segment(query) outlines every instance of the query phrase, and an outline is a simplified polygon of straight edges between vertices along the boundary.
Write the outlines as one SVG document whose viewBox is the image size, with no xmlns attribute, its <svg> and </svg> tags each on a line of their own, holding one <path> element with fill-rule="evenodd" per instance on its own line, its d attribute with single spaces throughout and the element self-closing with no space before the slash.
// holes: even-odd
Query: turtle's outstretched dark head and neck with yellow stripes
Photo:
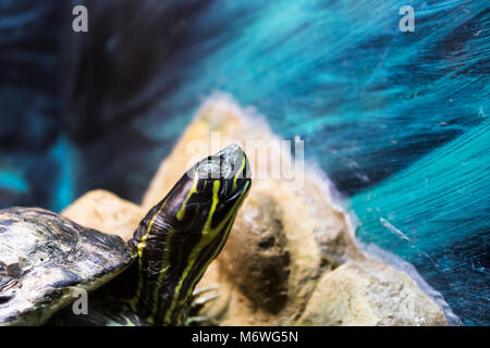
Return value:
<svg viewBox="0 0 490 348">
<path fill-rule="evenodd" d="M 191 167 L 142 221 L 137 311 L 156 324 L 180 324 L 192 293 L 224 246 L 250 188 L 249 163 L 232 145 Z"/>
</svg>

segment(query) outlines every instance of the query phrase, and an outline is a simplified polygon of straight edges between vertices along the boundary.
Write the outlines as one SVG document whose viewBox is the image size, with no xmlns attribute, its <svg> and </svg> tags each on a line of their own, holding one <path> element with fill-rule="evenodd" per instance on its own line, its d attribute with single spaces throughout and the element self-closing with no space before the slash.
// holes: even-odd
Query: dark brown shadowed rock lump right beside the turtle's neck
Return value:
<svg viewBox="0 0 490 348">
<path fill-rule="evenodd" d="M 274 314 L 287 300 L 291 266 L 281 212 L 260 192 L 248 199 L 247 207 L 253 219 L 235 221 L 220 266 L 254 306 Z"/>
</svg>

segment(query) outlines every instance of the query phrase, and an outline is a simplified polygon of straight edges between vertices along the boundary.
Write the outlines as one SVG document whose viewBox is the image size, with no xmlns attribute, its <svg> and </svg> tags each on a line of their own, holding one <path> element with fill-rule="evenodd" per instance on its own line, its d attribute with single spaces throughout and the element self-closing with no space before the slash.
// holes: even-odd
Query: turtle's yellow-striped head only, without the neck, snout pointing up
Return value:
<svg viewBox="0 0 490 348">
<path fill-rule="evenodd" d="M 232 145 L 197 162 L 181 181 L 169 209 L 175 225 L 200 241 L 226 237 L 226 227 L 250 187 L 249 164 L 242 149 Z"/>
</svg>

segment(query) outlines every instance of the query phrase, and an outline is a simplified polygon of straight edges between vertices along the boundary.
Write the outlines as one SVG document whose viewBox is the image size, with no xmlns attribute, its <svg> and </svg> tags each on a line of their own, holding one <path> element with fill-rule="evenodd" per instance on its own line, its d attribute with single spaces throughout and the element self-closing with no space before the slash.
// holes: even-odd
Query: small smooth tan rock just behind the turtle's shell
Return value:
<svg viewBox="0 0 490 348">
<path fill-rule="evenodd" d="M 83 226 L 119 235 L 124 240 L 133 237 L 145 213 L 135 203 L 102 189 L 88 191 L 61 212 Z"/>
</svg>

